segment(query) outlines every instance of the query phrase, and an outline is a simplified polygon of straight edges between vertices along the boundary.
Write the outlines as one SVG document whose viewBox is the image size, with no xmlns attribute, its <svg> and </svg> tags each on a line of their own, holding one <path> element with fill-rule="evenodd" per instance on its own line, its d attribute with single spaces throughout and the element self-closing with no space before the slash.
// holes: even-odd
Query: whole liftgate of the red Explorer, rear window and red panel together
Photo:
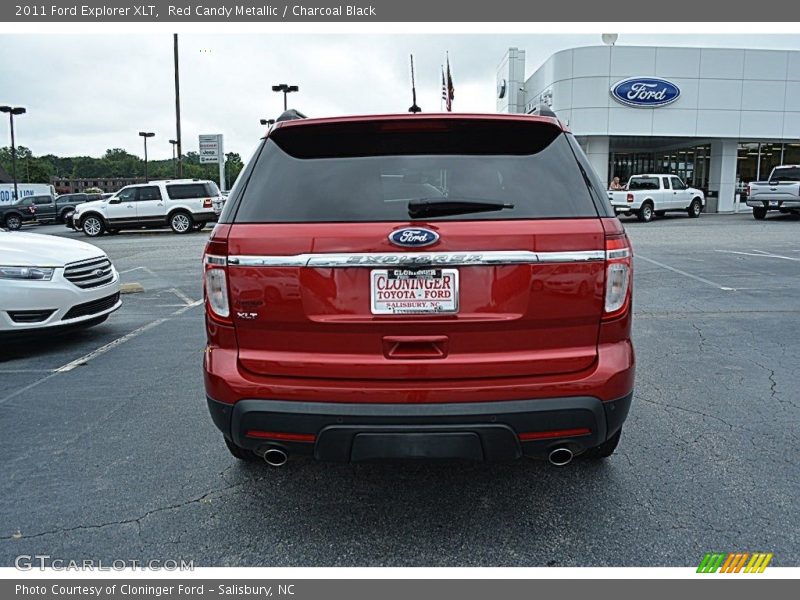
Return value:
<svg viewBox="0 0 800 600">
<path fill-rule="evenodd" d="M 546 119 L 276 128 L 221 219 L 241 368 L 423 380 L 591 367 L 611 209 L 577 152 L 583 163 Z M 412 218 L 419 200 L 439 212 Z M 389 239 L 408 227 L 432 241 Z M 408 286 L 409 304 L 384 301 Z M 423 308 L 427 290 L 441 295 Z"/>
</svg>

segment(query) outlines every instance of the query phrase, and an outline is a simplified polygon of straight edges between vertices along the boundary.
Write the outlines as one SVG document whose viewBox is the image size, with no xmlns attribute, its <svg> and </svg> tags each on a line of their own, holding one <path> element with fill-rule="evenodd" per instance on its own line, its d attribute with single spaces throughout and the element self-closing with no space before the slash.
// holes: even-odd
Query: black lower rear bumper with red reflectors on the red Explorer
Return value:
<svg viewBox="0 0 800 600">
<path fill-rule="evenodd" d="M 557 447 L 580 454 L 597 446 L 622 427 L 632 397 L 631 392 L 611 402 L 578 396 L 449 404 L 207 400 L 223 435 L 256 452 L 280 447 L 336 462 L 497 461 L 544 457 Z"/>
</svg>

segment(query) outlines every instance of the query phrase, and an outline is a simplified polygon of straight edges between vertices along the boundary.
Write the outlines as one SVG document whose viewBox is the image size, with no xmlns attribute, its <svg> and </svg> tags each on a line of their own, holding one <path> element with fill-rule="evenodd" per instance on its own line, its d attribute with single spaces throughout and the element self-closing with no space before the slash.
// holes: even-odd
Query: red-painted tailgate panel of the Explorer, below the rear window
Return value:
<svg viewBox="0 0 800 600">
<path fill-rule="evenodd" d="M 408 256 L 387 239 L 402 225 L 234 227 L 229 256 L 274 265 L 229 267 L 232 314 L 248 315 L 235 319 L 241 365 L 264 375 L 354 379 L 504 377 L 592 365 L 603 308 L 599 219 L 427 223 L 440 243 L 414 251 L 419 255 L 475 260 L 486 251 L 514 251 L 514 260 L 519 251 L 532 253 L 527 264 L 486 255 L 500 264 L 452 267 L 458 273 L 453 313 L 373 314 L 371 275 L 391 269 L 391 262 L 292 265 L 329 254 Z"/>
</svg>

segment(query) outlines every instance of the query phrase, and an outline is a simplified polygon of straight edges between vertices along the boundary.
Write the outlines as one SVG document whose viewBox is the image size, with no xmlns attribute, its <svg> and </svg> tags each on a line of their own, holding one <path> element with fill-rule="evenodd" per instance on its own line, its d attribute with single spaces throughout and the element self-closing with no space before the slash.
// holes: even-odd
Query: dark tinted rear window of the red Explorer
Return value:
<svg viewBox="0 0 800 600">
<path fill-rule="evenodd" d="M 425 220 L 598 214 L 557 127 L 420 120 L 276 130 L 264 142 L 234 221 L 408 221 L 409 201 L 420 199 L 514 205 Z"/>
</svg>

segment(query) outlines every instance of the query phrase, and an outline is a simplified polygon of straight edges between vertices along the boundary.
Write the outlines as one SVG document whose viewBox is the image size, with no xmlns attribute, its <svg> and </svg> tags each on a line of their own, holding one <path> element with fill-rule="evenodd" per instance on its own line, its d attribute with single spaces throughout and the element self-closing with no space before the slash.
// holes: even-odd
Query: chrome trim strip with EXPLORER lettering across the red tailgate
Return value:
<svg viewBox="0 0 800 600">
<path fill-rule="evenodd" d="M 208 258 L 208 257 L 207 257 Z M 216 258 L 216 257 L 215 257 Z M 229 256 L 228 265 L 242 267 L 387 267 L 524 265 L 534 263 L 589 262 L 605 260 L 603 250 L 531 252 L 484 250 L 474 252 L 354 252 L 352 254 L 296 254 L 292 256 Z"/>
</svg>

